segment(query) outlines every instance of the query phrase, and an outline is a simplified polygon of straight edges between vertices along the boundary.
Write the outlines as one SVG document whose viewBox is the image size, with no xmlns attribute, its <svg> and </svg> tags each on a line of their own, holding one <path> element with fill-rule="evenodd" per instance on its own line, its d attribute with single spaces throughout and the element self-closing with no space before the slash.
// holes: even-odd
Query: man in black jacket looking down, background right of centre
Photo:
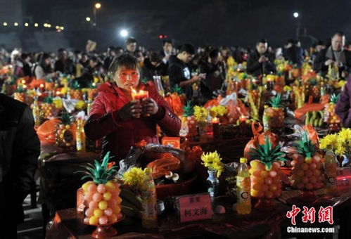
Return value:
<svg viewBox="0 0 351 239">
<path fill-rule="evenodd" d="M 273 63 L 274 59 L 269 56 L 267 48 L 268 44 L 266 39 L 257 41 L 256 50 L 250 53 L 248 57 L 248 74 L 258 77 L 260 75 L 276 72 L 276 65 Z"/>
</svg>

